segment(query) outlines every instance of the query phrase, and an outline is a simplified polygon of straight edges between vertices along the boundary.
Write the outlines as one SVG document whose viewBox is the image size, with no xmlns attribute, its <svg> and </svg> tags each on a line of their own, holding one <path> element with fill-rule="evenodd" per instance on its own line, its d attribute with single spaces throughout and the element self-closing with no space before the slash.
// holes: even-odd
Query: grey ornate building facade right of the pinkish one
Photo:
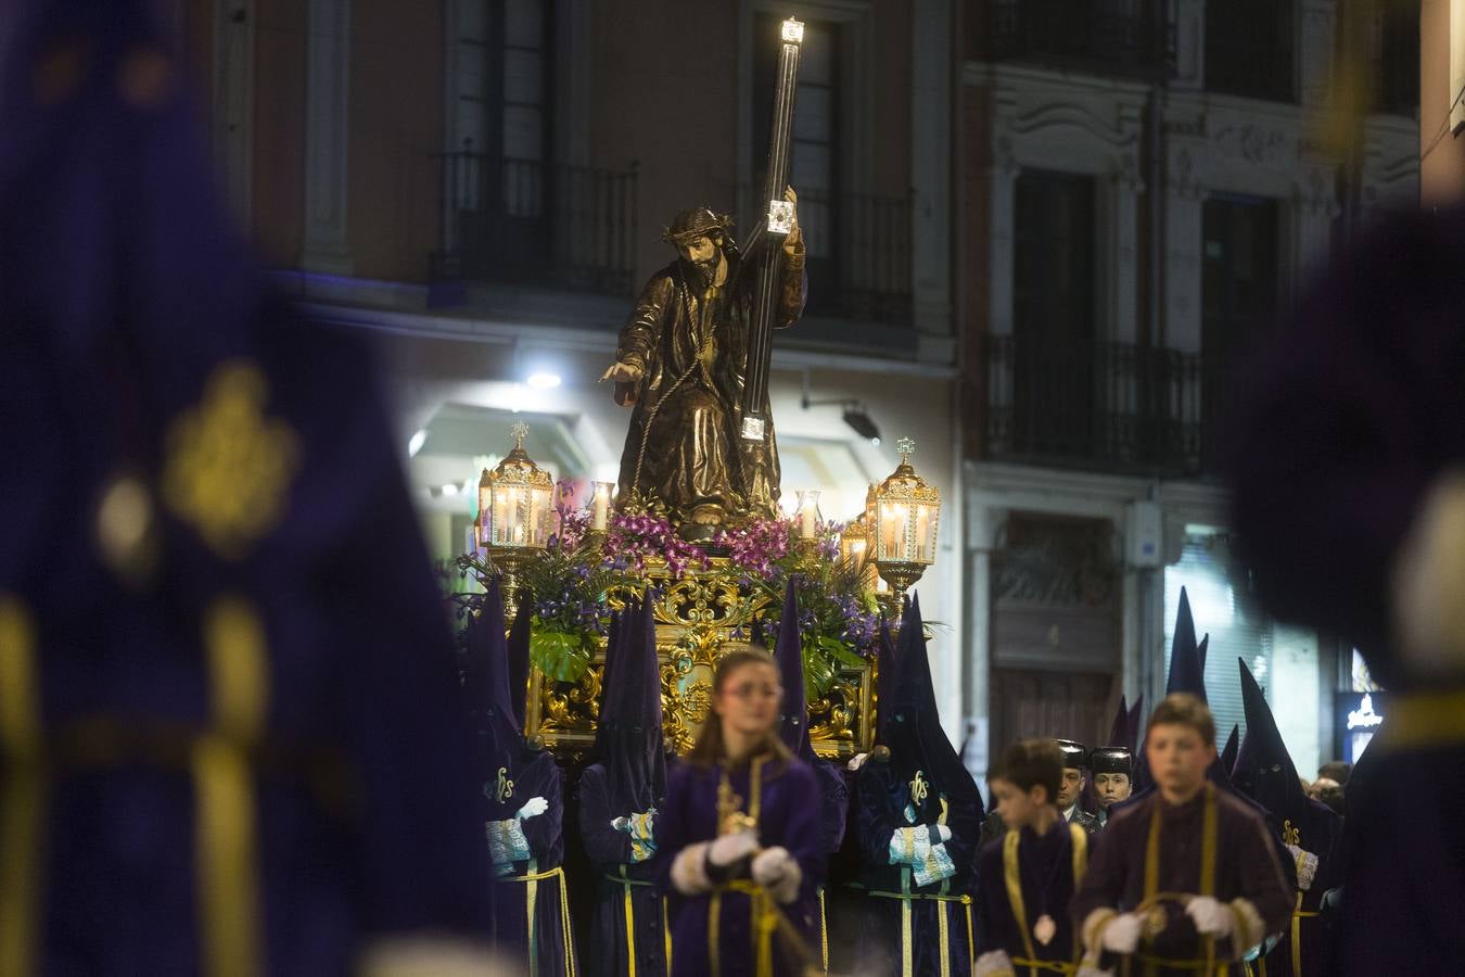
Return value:
<svg viewBox="0 0 1465 977">
<path fill-rule="evenodd" d="M 1364 138 L 1330 152 L 1333 0 L 977 0 L 963 12 L 974 741 L 1093 743 L 1121 693 L 1153 703 L 1185 587 L 1210 636 L 1219 734 L 1241 722 L 1239 656 L 1298 768 L 1316 769 L 1333 751 L 1351 656 L 1251 598 L 1217 478 L 1225 422 L 1251 341 L 1310 268 L 1371 211 L 1415 205 L 1418 62 L 1398 41 L 1418 21 L 1367 22 L 1377 81 Z"/>
</svg>

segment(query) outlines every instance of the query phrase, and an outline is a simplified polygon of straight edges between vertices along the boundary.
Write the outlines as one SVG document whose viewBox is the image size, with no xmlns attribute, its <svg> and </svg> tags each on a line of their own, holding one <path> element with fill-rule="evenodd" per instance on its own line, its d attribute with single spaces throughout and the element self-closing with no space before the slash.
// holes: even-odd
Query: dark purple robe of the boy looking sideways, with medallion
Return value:
<svg viewBox="0 0 1465 977">
<path fill-rule="evenodd" d="M 1078 962 L 1083 948 L 1078 945 L 1078 933 L 1068 914 L 1068 904 L 1077 891 L 1072 831 L 1059 817 L 1046 833 L 1039 835 L 1031 828 L 1024 828 L 1018 832 L 1018 882 L 1023 891 L 1024 917 L 1021 921 L 1014 915 L 1008 895 L 1004 860 L 1006 836 L 999 835 L 977 852 L 977 877 L 982 879 L 976 904 L 979 955 L 1001 949 L 1014 961 Z M 1087 832 L 1084 838 L 1088 845 L 1097 841 L 1097 836 Z M 1083 860 L 1086 864 L 1088 854 L 1091 852 Z M 1043 914 L 1047 914 L 1058 927 L 1046 946 L 1033 936 L 1033 926 Z M 1024 967 L 1014 967 L 1014 971 L 1023 977 L 1050 973 Z"/>
</svg>

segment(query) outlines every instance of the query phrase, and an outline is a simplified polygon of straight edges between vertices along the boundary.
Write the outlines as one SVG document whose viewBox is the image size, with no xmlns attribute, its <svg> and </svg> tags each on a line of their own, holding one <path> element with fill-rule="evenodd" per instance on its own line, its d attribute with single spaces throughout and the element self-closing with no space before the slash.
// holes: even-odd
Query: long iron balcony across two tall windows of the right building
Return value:
<svg viewBox="0 0 1465 977">
<path fill-rule="evenodd" d="M 1014 335 L 987 335 L 983 350 L 984 457 L 1150 476 L 1204 467 L 1198 356 Z"/>
</svg>

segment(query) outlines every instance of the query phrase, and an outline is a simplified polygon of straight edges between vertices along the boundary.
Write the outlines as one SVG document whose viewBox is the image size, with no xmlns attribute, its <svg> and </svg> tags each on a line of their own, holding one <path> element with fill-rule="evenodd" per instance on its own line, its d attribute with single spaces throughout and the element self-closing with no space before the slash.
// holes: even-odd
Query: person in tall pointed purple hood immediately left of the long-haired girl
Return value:
<svg viewBox="0 0 1465 977">
<path fill-rule="evenodd" d="M 667 920 L 656 888 L 656 811 L 667 797 L 661 677 L 652 599 L 612 625 L 595 728 L 596 762 L 580 773 L 580 839 L 599 873 L 590 974 L 667 973 Z"/>
</svg>

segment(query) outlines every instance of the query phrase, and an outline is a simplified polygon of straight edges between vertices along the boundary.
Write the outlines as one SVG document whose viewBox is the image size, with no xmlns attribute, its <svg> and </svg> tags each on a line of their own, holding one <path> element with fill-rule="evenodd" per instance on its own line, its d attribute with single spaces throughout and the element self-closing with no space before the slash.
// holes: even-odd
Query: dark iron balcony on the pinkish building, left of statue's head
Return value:
<svg viewBox="0 0 1465 977">
<path fill-rule="evenodd" d="M 636 170 L 435 154 L 441 236 L 432 281 L 494 281 L 628 296 Z"/>
</svg>

